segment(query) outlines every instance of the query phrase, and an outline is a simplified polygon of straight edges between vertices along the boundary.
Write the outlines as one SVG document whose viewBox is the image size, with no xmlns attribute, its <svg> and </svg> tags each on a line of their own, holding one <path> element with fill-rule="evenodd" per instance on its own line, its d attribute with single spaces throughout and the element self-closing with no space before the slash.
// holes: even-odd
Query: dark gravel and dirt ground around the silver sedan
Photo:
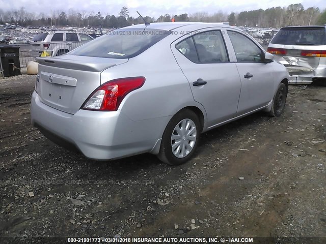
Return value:
<svg viewBox="0 0 326 244">
<path fill-rule="evenodd" d="M 204 133 L 195 158 L 170 167 L 150 154 L 97 162 L 53 144 L 31 126 L 35 79 L 0 79 L 0 236 L 326 243 L 326 87 L 291 85 L 281 117 L 258 112 Z"/>
</svg>

